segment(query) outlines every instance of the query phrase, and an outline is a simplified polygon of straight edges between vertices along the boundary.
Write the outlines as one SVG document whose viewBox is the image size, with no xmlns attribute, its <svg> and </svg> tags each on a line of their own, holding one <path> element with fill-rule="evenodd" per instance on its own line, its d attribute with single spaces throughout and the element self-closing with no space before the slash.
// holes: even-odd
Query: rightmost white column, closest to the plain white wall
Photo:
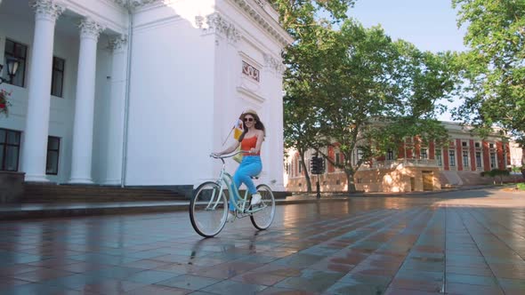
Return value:
<svg viewBox="0 0 525 295">
<path fill-rule="evenodd" d="M 124 141 L 126 48 L 125 36 L 109 41 L 113 51 L 111 65 L 111 96 L 109 98 L 108 163 L 104 184 L 119 185 L 122 178 L 122 156 Z"/>
</svg>

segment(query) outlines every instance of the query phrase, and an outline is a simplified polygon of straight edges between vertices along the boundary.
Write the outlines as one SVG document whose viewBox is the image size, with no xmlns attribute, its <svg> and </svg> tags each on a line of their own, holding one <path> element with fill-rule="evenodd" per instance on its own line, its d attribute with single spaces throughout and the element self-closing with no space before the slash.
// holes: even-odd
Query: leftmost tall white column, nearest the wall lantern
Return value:
<svg viewBox="0 0 525 295">
<path fill-rule="evenodd" d="M 35 35 L 28 76 L 28 114 L 22 145 L 22 171 L 26 181 L 45 178 L 49 107 L 51 100 L 52 48 L 55 22 L 64 7 L 52 0 L 36 0 Z"/>
</svg>

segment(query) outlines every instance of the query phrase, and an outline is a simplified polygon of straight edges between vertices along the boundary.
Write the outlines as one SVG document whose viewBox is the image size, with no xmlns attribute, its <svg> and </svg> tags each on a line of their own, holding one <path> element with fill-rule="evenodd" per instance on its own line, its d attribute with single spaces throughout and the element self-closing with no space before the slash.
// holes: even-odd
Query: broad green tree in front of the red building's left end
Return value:
<svg viewBox="0 0 525 295">
<path fill-rule="evenodd" d="M 380 27 L 363 28 L 346 20 L 331 34 L 334 42 L 327 44 L 315 84 L 323 134 L 315 148 L 345 172 L 351 192 L 359 167 L 396 148 L 404 137 L 447 139 L 435 117 L 441 109 L 438 100 L 454 89 L 455 76 L 449 70 L 450 53 L 420 52 L 407 42 L 394 43 Z M 327 155 L 327 146 L 337 146 L 343 161 L 336 163 Z"/>
</svg>

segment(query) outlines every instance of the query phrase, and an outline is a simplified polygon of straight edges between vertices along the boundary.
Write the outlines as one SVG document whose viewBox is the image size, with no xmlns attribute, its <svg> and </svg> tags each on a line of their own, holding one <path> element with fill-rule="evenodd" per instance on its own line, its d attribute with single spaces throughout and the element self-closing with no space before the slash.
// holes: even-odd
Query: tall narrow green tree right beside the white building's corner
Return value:
<svg viewBox="0 0 525 295">
<path fill-rule="evenodd" d="M 271 4 L 280 14 L 281 24 L 295 38 L 295 43 L 283 53 L 287 71 L 284 76 L 284 138 L 285 148 L 295 148 L 301 158 L 307 191 L 311 192 L 308 159 L 305 152 L 319 137 L 316 117 L 317 95 L 311 84 L 323 66 L 319 40 L 327 36 L 327 23 L 338 23 L 346 18 L 353 0 L 273 0 Z M 319 14 L 325 16 L 319 19 Z"/>
</svg>

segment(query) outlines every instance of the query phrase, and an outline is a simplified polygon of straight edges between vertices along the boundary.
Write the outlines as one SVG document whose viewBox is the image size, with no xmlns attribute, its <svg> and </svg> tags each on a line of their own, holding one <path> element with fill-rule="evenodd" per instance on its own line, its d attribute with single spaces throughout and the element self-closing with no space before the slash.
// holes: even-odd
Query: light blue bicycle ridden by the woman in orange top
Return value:
<svg viewBox="0 0 525 295">
<path fill-rule="evenodd" d="M 265 184 L 258 185 L 257 192 L 262 196 L 261 203 L 250 205 L 251 195 L 246 190 L 241 197 L 233 183 L 233 178 L 226 171 L 224 159 L 244 152 L 246 151 L 238 151 L 230 155 L 210 155 L 222 161 L 222 170 L 217 180 L 206 181 L 199 185 L 191 198 L 191 226 L 198 235 L 213 237 L 221 232 L 228 218 L 228 201 L 235 207 L 236 218 L 249 216 L 254 227 L 259 230 L 270 227 L 275 216 L 275 198 L 271 188 Z"/>
</svg>

